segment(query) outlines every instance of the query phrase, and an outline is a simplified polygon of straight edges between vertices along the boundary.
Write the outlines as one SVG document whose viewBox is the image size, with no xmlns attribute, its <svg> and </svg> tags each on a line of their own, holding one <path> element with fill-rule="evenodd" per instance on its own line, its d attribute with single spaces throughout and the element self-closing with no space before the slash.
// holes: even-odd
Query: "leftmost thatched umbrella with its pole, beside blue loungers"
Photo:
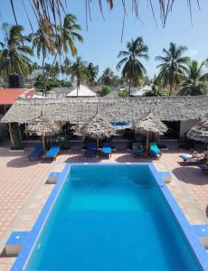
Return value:
<svg viewBox="0 0 208 271">
<path fill-rule="evenodd" d="M 43 150 L 45 151 L 44 135 L 45 133 L 59 131 L 60 126 L 55 122 L 40 116 L 33 119 L 25 128 L 26 133 L 36 133 L 42 135 Z"/>
</svg>

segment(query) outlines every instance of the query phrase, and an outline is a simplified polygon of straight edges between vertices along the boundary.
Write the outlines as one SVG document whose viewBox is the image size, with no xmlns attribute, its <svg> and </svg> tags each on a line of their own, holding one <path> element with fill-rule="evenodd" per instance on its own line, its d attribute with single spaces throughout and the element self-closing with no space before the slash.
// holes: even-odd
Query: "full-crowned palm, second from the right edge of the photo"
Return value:
<svg viewBox="0 0 208 271">
<path fill-rule="evenodd" d="M 159 68 L 158 79 L 164 86 L 169 85 L 169 97 L 172 94 L 175 85 L 179 84 L 184 72 L 186 71 L 186 64 L 189 61 L 188 57 L 184 57 L 184 51 L 186 46 L 179 45 L 170 42 L 168 50 L 163 48 L 164 56 L 156 56 L 156 61 L 160 61 L 161 64 L 157 65 Z"/>
</svg>

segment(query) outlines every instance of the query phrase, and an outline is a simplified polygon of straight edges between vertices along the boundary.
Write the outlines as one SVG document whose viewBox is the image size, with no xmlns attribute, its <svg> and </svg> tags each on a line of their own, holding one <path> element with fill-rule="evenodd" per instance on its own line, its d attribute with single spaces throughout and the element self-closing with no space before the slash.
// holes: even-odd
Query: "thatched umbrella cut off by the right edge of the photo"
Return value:
<svg viewBox="0 0 208 271">
<path fill-rule="evenodd" d="M 208 143 L 208 117 L 204 117 L 196 126 L 191 128 L 187 136 L 194 140 Z"/>
</svg>

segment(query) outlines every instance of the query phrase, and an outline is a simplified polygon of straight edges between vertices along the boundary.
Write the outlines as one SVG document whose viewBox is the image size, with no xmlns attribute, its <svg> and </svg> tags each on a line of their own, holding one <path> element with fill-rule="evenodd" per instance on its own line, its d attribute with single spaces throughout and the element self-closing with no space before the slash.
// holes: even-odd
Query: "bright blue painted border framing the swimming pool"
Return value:
<svg viewBox="0 0 208 271">
<path fill-rule="evenodd" d="M 186 238 L 188 245 L 192 249 L 196 260 L 198 261 L 199 266 L 203 268 L 204 271 L 208 271 L 208 254 L 203 248 L 203 245 L 200 243 L 200 240 L 197 238 L 194 233 L 194 229 L 191 224 L 189 224 L 188 220 L 186 220 L 184 216 L 184 212 L 180 209 L 178 203 L 175 201 L 174 196 L 168 190 L 165 182 L 162 177 L 159 175 L 159 171 L 156 170 L 156 166 L 153 163 L 67 163 L 63 170 L 61 171 L 58 181 L 52 189 L 51 194 L 49 195 L 47 201 L 43 206 L 43 210 L 41 211 L 38 219 L 35 221 L 33 228 L 31 229 L 28 236 L 28 243 L 24 246 L 19 255 L 16 257 L 14 261 L 14 265 L 11 267 L 11 271 L 24 271 L 24 267 L 28 263 L 30 255 L 33 252 L 34 244 L 37 241 L 39 235 L 43 230 L 43 226 L 47 221 L 48 216 L 51 213 L 52 207 L 61 192 L 61 187 L 63 182 L 65 181 L 67 175 L 70 172 L 71 165 L 147 165 L 150 172 L 153 174 L 154 179 L 156 180 L 156 184 L 158 189 L 162 192 L 165 197 L 165 201 L 172 210 L 175 220 L 177 221 L 179 227 L 182 229 L 184 234 L 184 238 Z"/>
</svg>

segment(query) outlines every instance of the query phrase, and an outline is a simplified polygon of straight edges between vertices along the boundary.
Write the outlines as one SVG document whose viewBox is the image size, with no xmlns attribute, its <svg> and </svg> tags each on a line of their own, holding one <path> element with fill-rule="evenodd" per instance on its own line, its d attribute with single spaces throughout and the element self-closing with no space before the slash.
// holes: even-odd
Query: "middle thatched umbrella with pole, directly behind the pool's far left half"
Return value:
<svg viewBox="0 0 208 271">
<path fill-rule="evenodd" d="M 116 129 L 106 118 L 100 117 L 97 114 L 95 117 L 90 118 L 90 121 L 81 128 L 80 132 L 82 135 L 96 139 L 97 153 L 99 153 L 99 139 L 114 135 Z"/>
</svg>

